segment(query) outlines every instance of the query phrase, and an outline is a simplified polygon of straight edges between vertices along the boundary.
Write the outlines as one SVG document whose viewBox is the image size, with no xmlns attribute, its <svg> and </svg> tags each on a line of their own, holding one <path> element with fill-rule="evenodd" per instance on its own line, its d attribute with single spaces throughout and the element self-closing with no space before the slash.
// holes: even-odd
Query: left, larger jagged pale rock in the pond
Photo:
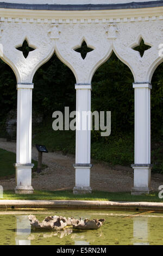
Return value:
<svg viewBox="0 0 163 256">
<path fill-rule="evenodd" d="M 67 225 L 66 218 L 62 216 L 49 216 L 41 223 L 34 215 L 29 215 L 28 218 L 32 227 L 36 229 L 60 230 L 64 229 Z"/>
</svg>

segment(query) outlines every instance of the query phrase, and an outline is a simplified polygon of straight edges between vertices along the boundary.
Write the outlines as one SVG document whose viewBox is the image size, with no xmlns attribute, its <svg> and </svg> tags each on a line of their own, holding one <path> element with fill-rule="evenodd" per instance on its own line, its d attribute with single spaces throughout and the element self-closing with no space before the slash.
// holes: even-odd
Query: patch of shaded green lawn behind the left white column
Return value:
<svg viewBox="0 0 163 256">
<path fill-rule="evenodd" d="M 4 149 L 0 149 L 0 177 L 15 175 L 16 154 Z M 37 161 L 32 160 L 34 163 L 33 171 L 37 168 Z M 43 165 L 43 168 L 46 166 Z"/>
</svg>

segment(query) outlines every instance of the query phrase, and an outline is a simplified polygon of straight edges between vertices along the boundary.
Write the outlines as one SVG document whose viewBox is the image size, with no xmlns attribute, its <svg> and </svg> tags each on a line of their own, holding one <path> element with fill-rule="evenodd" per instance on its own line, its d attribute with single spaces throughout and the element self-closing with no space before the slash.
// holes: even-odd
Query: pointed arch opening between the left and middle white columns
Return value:
<svg viewBox="0 0 163 256">
<path fill-rule="evenodd" d="M 72 158 L 72 163 L 68 160 L 66 163 L 65 155 L 75 154 L 76 132 L 65 130 L 65 107 L 69 107 L 69 112 L 76 110 L 76 90 L 74 89 L 76 78 L 68 66 L 62 63 L 54 53 L 52 58 L 36 71 L 33 83 L 33 120 L 36 119 L 34 115 L 37 115 L 38 123 L 33 125 L 32 144 L 46 145 L 49 154 L 53 154 L 55 158 L 53 166 L 52 163 L 47 164 L 48 168 L 45 166 L 46 169 L 42 172 L 51 176 L 45 188 L 47 190 L 72 190 L 74 159 Z M 53 130 L 52 124 L 56 118 L 52 118 L 52 114 L 55 111 L 63 114 L 63 130 Z M 47 161 L 45 155 L 45 162 Z M 71 172 L 66 167 L 61 167 L 62 164 L 68 164 L 67 169 L 71 169 Z"/>
</svg>

